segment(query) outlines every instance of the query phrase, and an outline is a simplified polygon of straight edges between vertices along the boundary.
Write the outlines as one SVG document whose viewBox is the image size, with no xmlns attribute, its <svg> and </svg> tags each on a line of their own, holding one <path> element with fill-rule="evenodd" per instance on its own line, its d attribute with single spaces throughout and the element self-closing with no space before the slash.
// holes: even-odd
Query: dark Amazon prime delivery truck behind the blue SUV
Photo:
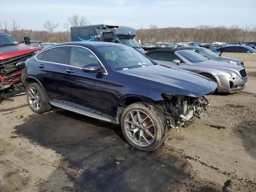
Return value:
<svg viewBox="0 0 256 192">
<path fill-rule="evenodd" d="M 71 27 L 71 41 L 101 41 L 128 45 L 142 52 L 138 42 L 134 39 L 136 30 L 134 28 L 114 25 L 90 25 Z"/>
</svg>

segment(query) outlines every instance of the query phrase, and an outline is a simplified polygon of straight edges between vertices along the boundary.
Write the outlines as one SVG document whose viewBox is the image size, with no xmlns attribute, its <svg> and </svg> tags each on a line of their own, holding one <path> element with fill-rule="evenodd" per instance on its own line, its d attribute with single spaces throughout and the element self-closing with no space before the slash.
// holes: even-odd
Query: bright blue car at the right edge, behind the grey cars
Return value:
<svg viewBox="0 0 256 192">
<path fill-rule="evenodd" d="M 229 45 L 229 46 L 222 46 L 216 49 L 213 49 L 212 52 L 215 53 L 256 53 L 256 50 L 244 45 Z"/>
</svg>

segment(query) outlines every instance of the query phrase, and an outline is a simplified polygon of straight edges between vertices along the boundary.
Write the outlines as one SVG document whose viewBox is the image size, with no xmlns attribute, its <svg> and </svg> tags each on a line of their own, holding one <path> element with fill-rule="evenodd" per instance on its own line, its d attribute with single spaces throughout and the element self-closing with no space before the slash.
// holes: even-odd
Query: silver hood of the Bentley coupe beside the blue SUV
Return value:
<svg viewBox="0 0 256 192">
<path fill-rule="evenodd" d="M 244 68 L 239 65 L 234 65 L 226 62 L 218 62 L 218 61 L 213 61 L 213 60 L 207 60 L 207 61 L 202 61 L 198 63 L 194 63 L 196 66 L 208 66 L 211 68 L 222 68 L 226 70 L 232 70 L 236 71 L 239 74 L 240 70 L 243 70 Z"/>
</svg>

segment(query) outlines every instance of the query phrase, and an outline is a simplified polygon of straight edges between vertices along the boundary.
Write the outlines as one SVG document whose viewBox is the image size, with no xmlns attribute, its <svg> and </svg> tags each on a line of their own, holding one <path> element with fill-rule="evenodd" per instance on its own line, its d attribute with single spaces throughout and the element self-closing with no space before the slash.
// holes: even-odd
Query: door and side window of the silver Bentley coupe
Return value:
<svg viewBox="0 0 256 192">
<path fill-rule="evenodd" d="M 154 60 L 156 63 L 176 67 L 181 69 L 188 69 L 188 64 L 186 64 L 181 58 L 179 58 L 176 54 L 170 52 L 154 52 L 148 55 L 149 58 Z M 178 59 L 181 61 L 180 65 L 173 62 L 173 60 Z"/>
</svg>

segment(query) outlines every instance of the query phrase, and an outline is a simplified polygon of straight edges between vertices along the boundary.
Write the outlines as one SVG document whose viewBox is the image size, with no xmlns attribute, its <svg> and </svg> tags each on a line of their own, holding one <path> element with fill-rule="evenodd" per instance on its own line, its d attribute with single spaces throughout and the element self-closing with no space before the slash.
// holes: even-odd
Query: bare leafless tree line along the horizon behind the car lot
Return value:
<svg viewBox="0 0 256 192">
<path fill-rule="evenodd" d="M 60 23 L 53 23 L 50 20 L 44 22 L 44 30 L 26 30 L 15 20 L 0 20 L 0 30 L 10 32 L 19 40 L 24 36 L 31 40 L 43 42 L 69 42 L 70 27 L 89 25 L 90 22 L 84 16 L 77 14 L 67 18 L 68 22 L 63 24 L 66 31 L 56 31 Z M 255 42 L 256 25 L 250 26 L 206 26 L 200 25 L 192 28 L 168 27 L 158 28 L 151 24 L 148 28 L 136 30 L 136 40 L 141 42 Z"/>
</svg>

